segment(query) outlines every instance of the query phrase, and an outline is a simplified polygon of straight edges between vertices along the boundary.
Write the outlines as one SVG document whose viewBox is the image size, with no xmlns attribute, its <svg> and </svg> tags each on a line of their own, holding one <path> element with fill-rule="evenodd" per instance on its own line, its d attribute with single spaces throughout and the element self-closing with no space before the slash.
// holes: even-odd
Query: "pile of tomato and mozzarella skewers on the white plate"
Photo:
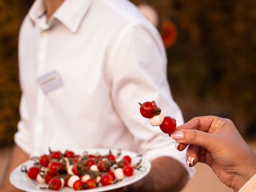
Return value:
<svg viewBox="0 0 256 192">
<path fill-rule="evenodd" d="M 136 157 L 138 156 L 140 155 Z M 40 189 L 51 190 L 60 190 L 64 186 L 74 190 L 108 186 L 132 176 L 134 169 L 143 171 L 144 168 L 140 165 L 142 159 L 131 164 L 132 158 L 128 155 L 121 156 L 120 149 L 116 155 L 111 150 L 108 154 L 91 154 L 85 151 L 79 155 L 70 150 L 61 153 L 49 148 L 49 154 L 31 159 L 34 160 L 34 166 L 22 166 L 21 171 L 40 184 L 48 184 Z"/>
</svg>

